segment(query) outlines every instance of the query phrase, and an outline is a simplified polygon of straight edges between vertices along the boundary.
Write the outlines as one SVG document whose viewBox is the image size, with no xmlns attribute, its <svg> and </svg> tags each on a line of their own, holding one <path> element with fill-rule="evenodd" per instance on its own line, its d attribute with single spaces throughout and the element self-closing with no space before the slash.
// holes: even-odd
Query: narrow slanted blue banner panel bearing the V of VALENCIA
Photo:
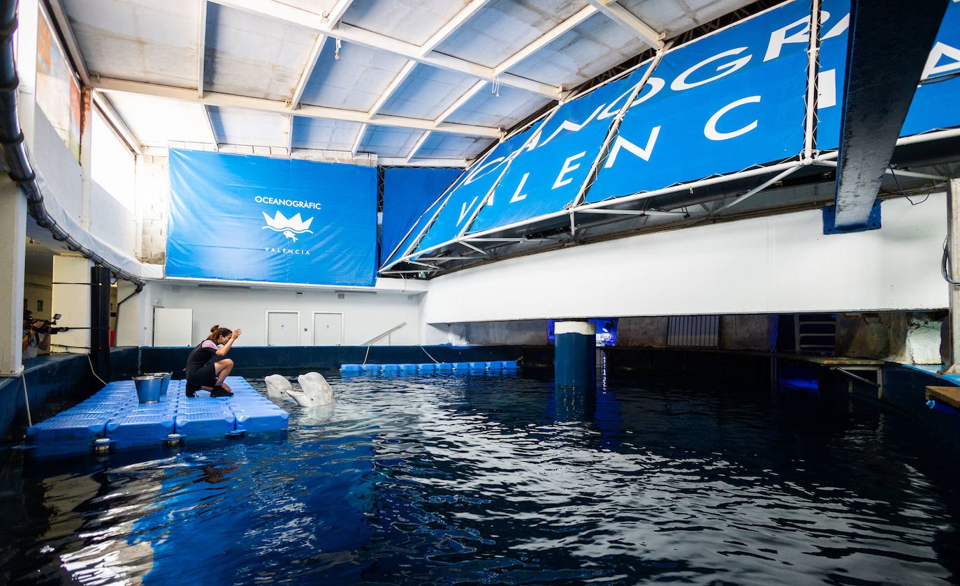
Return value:
<svg viewBox="0 0 960 586">
<path fill-rule="evenodd" d="M 539 126 L 539 125 L 538 125 Z M 536 127 L 535 127 L 536 128 Z M 490 193 L 505 167 L 516 156 L 531 148 L 529 143 L 536 138 L 534 129 L 527 129 L 496 146 L 487 156 L 475 163 L 457 184 L 444 202 L 444 208 L 430 225 L 429 231 L 420 240 L 418 250 L 425 250 L 449 242 L 457 237 L 473 218 L 481 202 Z"/>
</svg>

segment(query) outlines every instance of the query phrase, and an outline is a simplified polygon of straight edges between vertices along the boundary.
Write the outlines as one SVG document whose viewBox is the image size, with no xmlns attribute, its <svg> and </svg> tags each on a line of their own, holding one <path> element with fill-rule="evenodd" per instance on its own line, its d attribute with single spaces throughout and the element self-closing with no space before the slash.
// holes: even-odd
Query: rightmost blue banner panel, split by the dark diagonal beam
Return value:
<svg viewBox="0 0 960 586">
<path fill-rule="evenodd" d="M 826 0 L 821 29 L 817 149 L 840 146 L 840 118 L 847 85 L 847 43 L 850 2 Z M 937 40 L 926 60 L 921 83 L 913 96 L 900 136 L 960 126 L 960 3 L 947 7 Z"/>
</svg>

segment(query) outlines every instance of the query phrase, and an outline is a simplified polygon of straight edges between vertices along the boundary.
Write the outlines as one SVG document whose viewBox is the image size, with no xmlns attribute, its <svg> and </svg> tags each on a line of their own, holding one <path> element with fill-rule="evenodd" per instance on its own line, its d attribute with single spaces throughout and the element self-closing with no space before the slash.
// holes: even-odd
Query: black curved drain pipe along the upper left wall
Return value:
<svg viewBox="0 0 960 586">
<path fill-rule="evenodd" d="M 43 205 L 43 194 L 36 183 L 36 174 L 27 158 L 23 145 L 23 132 L 16 113 L 16 93 L 19 79 L 13 61 L 13 32 L 16 30 L 16 0 L 0 0 L 0 147 L 3 148 L 7 162 L 8 175 L 27 196 L 27 209 L 40 227 L 47 228 L 54 239 L 66 243 L 66 246 L 84 255 L 101 267 L 106 267 L 121 279 L 136 286 L 137 293 L 143 289 L 144 281 L 127 270 L 108 263 L 102 256 L 81 245 L 66 232 L 47 212 Z"/>
</svg>

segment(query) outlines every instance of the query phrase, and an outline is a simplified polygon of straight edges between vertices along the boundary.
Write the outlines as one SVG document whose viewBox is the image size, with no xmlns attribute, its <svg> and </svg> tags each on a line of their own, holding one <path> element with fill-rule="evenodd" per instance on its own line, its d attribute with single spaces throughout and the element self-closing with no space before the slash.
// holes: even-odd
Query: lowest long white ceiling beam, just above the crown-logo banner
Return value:
<svg viewBox="0 0 960 586">
<path fill-rule="evenodd" d="M 324 107 L 321 105 L 301 105 L 300 108 L 298 108 L 295 112 L 295 110 L 289 104 L 277 100 L 235 96 L 233 94 L 223 94 L 218 92 L 206 92 L 204 97 L 200 98 L 197 96 L 197 92 L 195 90 L 186 89 L 183 87 L 174 87 L 171 85 L 159 85 L 156 83 L 129 82 L 126 80 L 100 78 L 96 82 L 91 83 L 91 85 L 94 89 L 104 92 L 114 91 L 139 94 L 142 96 L 169 98 L 183 102 L 199 102 L 204 105 L 244 107 L 252 110 L 275 112 L 277 114 L 296 113 L 298 116 L 302 116 L 304 118 L 345 120 L 347 122 L 358 122 L 360 124 L 372 124 L 382 127 L 433 130 L 435 132 L 452 132 L 455 134 L 466 134 L 468 136 L 488 136 L 491 138 L 500 137 L 500 129 L 495 129 L 492 127 L 480 127 L 447 122 L 438 123 L 432 120 L 421 120 L 419 118 L 407 118 L 403 116 L 370 116 L 367 114 L 367 112 Z"/>
</svg>

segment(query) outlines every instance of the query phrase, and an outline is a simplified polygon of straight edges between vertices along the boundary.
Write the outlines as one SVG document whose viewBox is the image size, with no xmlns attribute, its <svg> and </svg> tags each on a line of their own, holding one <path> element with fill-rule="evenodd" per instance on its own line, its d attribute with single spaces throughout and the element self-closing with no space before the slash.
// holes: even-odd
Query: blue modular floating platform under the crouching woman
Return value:
<svg viewBox="0 0 960 586">
<path fill-rule="evenodd" d="M 83 403 L 27 429 L 27 444 L 44 455 L 88 452 L 107 438 L 114 448 L 158 445 L 168 434 L 192 438 L 283 430 L 290 415 L 241 377 L 227 377 L 232 397 L 207 391 L 187 398 L 183 381 L 170 381 L 156 403 L 139 403 L 132 381 L 110 383 Z"/>
</svg>

